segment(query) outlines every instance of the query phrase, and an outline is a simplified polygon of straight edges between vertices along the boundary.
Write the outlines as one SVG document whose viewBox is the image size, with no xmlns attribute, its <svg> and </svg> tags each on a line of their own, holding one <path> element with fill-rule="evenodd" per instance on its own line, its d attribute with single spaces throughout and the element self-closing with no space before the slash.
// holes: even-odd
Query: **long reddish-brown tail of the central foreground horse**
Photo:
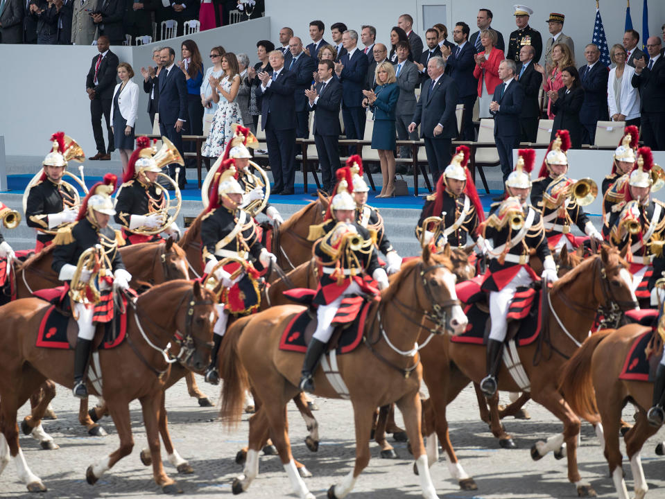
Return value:
<svg viewBox="0 0 665 499">
<path fill-rule="evenodd" d="M 245 403 L 245 390 L 250 384 L 247 369 L 238 354 L 238 341 L 251 318 L 251 315 L 241 317 L 229 326 L 217 358 L 223 379 L 219 416 L 229 427 L 236 426 L 240 422 Z"/>
</svg>

